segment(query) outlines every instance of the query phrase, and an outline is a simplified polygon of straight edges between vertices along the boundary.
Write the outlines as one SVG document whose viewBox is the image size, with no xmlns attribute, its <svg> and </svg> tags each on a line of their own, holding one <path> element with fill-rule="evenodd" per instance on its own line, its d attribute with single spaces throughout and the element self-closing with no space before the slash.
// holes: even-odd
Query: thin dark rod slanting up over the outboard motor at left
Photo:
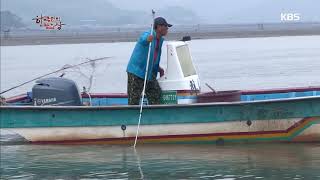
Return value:
<svg viewBox="0 0 320 180">
<path fill-rule="evenodd" d="M 57 73 L 57 72 L 60 72 L 60 71 L 66 70 L 66 69 L 70 69 L 70 68 L 74 68 L 74 67 L 77 67 L 77 66 L 81 66 L 81 65 L 84 65 L 84 64 L 87 64 L 87 63 L 92 63 L 92 62 L 96 62 L 96 61 L 105 60 L 105 59 L 107 59 L 107 58 L 110 58 L 110 57 L 102 57 L 102 58 L 97 58 L 97 59 L 89 59 L 89 58 L 87 58 L 88 61 L 85 61 L 85 62 L 82 62 L 82 63 L 79 63 L 79 64 L 75 64 L 75 65 L 71 65 L 71 66 L 64 66 L 64 67 L 62 67 L 61 69 L 58 69 L 58 70 L 55 70 L 55 71 L 53 71 L 53 72 L 50 72 L 50 73 L 47 73 L 47 74 L 38 76 L 38 77 L 33 78 L 33 79 L 29 80 L 29 81 L 23 82 L 23 83 L 21 83 L 21 84 L 19 84 L 19 85 L 17 85 L 17 86 L 14 86 L 14 87 L 12 87 L 12 88 L 9 88 L 9 89 L 7 89 L 7 90 L 4 90 L 4 91 L 0 92 L 0 94 L 4 94 L 4 93 L 6 93 L 6 92 L 8 92 L 8 91 L 11 91 L 11 90 L 16 89 L 16 88 L 18 88 L 18 87 L 21 87 L 21 86 L 23 86 L 23 85 L 26 85 L 26 84 L 28 84 L 28 83 L 30 83 L 30 82 L 33 82 L 33 81 L 38 80 L 38 79 L 41 79 L 41 78 L 43 78 L 43 77 L 49 76 L 49 75 L 51 75 L 51 74 L 55 74 L 55 73 Z"/>
</svg>

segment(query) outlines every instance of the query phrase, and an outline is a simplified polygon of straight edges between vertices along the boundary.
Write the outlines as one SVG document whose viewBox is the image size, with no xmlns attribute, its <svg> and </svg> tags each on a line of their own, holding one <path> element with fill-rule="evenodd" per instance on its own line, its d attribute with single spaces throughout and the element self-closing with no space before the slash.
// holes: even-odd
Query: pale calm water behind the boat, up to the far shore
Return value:
<svg viewBox="0 0 320 180">
<path fill-rule="evenodd" d="M 283 88 L 320 85 L 320 36 L 193 40 L 189 42 L 202 89 Z M 86 58 L 112 57 L 66 72 L 66 77 L 91 92 L 126 92 L 126 66 L 134 43 L 60 44 L 1 47 L 1 86 L 4 90 L 34 77 L 77 64 Z M 166 46 L 161 64 L 166 67 Z M 56 74 L 56 76 L 60 75 Z M 8 92 L 30 91 L 33 83 Z"/>
</svg>

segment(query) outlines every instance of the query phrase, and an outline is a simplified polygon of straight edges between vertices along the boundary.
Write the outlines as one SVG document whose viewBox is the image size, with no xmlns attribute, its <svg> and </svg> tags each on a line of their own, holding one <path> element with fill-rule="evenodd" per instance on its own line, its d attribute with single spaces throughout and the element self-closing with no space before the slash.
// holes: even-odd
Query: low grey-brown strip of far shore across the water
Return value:
<svg viewBox="0 0 320 180">
<path fill-rule="evenodd" d="M 53 44 L 82 44 L 82 43 L 112 43 L 135 42 L 142 31 L 135 32 L 106 32 L 86 33 L 81 35 L 53 34 L 47 36 L 1 37 L 1 46 L 20 45 L 53 45 Z M 225 38 L 254 38 L 279 36 L 311 36 L 320 35 L 319 28 L 297 30 L 246 30 L 246 31 L 200 31 L 200 32 L 170 32 L 166 40 L 181 40 L 183 36 L 192 39 L 225 39 Z"/>
</svg>

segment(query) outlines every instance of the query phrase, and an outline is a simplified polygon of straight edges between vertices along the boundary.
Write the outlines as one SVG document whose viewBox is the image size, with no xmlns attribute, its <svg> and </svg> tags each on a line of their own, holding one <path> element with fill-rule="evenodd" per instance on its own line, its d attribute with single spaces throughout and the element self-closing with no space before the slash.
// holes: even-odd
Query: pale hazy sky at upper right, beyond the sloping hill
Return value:
<svg viewBox="0 0 320 180">
<path fill-rule="evenodd" d="M 109 0 L 125 9 L 182 6 L 205 23 L 279 22 L 281 12 L 300 13 L 302 21 L 320 21 L 319 0 Z"/>
</svg>

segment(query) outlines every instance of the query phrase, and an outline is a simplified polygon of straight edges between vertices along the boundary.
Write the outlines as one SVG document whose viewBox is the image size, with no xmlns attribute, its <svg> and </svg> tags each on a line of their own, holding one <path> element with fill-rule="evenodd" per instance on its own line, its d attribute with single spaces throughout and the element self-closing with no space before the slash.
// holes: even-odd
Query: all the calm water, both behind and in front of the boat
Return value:
<svg viewBox="0 0 320 180">
<path fill-rule="evenodd" d="M 92 92 L 125 92 L 133 46 L 1 47 L 1 90 L 65 64 L 112 56 L 95 67 Z M 320 85 L 320 36 L 194 40 L 190 49 L 202 84 L 218 90 Z M 163 58 L 165 66 L 165 50 Z M 67 77 L 81 87 L 88 82 L 79 71 L 91 70 Z M 0 179 L 320 179 L 320 144 L 139 145 L 135 154 L 128 146 L 29 145 L 1 135 Z"/>
</svg>

